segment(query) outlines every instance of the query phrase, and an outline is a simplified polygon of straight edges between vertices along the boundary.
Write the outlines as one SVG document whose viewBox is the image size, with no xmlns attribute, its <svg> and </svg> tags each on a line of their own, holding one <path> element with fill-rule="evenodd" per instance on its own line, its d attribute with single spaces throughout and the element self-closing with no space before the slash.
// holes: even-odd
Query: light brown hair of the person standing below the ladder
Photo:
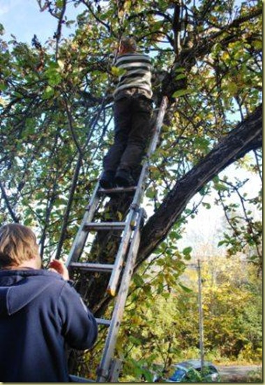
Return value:
<svg viewBox="0 0 265 385">
<path fill-rule="evenodd" d="M 20 266 L 38 253 L 36 235 L 22 224 L 6 224 L 0 227 L 0 268 Z"/>
</svg>

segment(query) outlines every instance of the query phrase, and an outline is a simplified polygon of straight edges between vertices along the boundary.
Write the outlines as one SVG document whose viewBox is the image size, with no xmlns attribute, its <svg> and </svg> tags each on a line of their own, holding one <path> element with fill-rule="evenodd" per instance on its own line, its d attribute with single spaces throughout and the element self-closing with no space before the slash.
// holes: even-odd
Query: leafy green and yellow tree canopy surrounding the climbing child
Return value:
<svg viewBox="0 0 265 385">
<path fill-rule="evenodd" d="M 261 210 L 262 194 L 245 196 L 245 180 L 219 174 L 234 163 L 262 182 L 262 1 L 73 0 L 77 20 L 66 16 L 67 0 L 37 2 L 57 20 L 51 38 L 0 40 L 0 223 L 36 228 L 45 263 L 68 254 L 112 143 L 114 51 L 122 36 L 134 36 L 153 61 L 155 107 L 169 99 L 151 159 L 153 214 L 137 268 L 152 253 L 179 258 L 177 240 L 196 212 L 187 205 L 212 189 L 230 228 L 223 241 L 229 254 L 248 249 L 261 268 L 253 210 Z M 241 208 L 227 203 L 231 194 Z M 126 214 L 127 203 L 109 205 L 118 217 Z M 114 252 L 107 248 L 108 257 Z M 104 296 L 98 290 L 97 303 Z"/>
</svg>

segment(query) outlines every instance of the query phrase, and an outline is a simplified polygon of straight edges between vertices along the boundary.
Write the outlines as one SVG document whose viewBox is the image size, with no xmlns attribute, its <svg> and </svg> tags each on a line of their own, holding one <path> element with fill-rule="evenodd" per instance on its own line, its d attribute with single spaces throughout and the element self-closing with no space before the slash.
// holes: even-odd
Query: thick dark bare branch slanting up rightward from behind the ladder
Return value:
<svg viewBox="0 0 265 385">
<path fill-rule="evenodd" d="M 156 214 L 147 221 L 143 228 L 137 267 L 165 239 L 187 203 L 206 183 L 236 159 L 261 146 L 262 105 L 227 134 L 222 142 L 189 173 L 176 182 Z"/>
</svg>

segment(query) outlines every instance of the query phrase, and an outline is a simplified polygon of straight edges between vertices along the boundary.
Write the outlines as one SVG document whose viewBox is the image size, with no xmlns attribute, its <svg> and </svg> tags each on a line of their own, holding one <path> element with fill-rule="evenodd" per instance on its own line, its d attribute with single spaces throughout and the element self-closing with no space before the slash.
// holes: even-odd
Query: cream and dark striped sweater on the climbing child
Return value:
<svg viewBox="0 0 265 385">
<path fill-rule="evenodd" d="M 145 89 L 151 98 L 153 92 L 151 90 L 151 59 L 147 55 L 138 53 L 128 53 L 118 56 L 114 64 L 117 68 L 121 68 L 122 74 L 119 76 L 119 82 L 114 91 L 114 96 L 128 88 Z"/>
</svg>

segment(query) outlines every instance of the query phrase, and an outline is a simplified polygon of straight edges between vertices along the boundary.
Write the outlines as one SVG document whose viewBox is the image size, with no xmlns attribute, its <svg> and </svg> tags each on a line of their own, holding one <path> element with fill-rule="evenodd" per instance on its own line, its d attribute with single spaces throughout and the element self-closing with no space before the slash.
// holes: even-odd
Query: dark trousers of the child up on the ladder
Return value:
<svg viewBox="0 0 265 385">
<path fill-rule="evenodd" d="M 114 101 L 114 144 L 103 160 L 105 171 L 133 174 L 141 164 L 151 133 L 152 100 L 142 89 L 120 92 Z"/>
</svg>

